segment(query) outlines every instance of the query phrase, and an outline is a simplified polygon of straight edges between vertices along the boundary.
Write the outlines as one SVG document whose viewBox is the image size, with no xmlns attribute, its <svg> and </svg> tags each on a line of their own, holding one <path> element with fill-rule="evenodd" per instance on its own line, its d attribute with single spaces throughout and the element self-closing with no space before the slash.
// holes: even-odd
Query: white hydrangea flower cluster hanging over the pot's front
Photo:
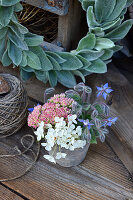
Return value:
<svg viewBox="0 0 133 200">
<path fill-rule="evenodd" d="M 86 145 L 86 140 L 80 139 L 82 128 L 81 126 L 76 127 L 76 118 L 76 115 L 68 116 L 68 124 L 66 124 L 63 117 L 56 117 L 55 127 L 53 128 L 50 125 L 47 126 L 48 131 L 45 135 L 46 143 L 42 143 L 42 146 L 44 146 L 47 151 L 51 151 L 53 147 L 56 147 L 55 145 L 70 151 L 74 151 L 76 148 L 83 148 Z M 61 153 L 60 151 L 56 154 L 55 158 L 48 155 L 44 156 L 44 158 L 51 162 L 55 162 L 55 159 L 65 157 L 66 154 Z"/>
</svg>

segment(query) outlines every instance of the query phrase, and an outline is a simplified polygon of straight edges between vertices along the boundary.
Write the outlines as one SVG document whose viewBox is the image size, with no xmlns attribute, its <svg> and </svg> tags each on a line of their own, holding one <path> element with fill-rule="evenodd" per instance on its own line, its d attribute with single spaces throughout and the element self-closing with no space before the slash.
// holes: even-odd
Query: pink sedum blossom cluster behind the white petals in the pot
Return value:
<svg viewBox="0 0 133 200">
<path fill-rule="evenodd" d="M 55 95 L 43 106 L 34 107 L 34 110 L 28 116 L 28 126 L 37 128 L 42 121 L 44 124 L 54 125 L 55 117 L 63 117 L 67 120 L 73 102 L 74 100 L 65 97 L 65 94 Z"/>
</svg>

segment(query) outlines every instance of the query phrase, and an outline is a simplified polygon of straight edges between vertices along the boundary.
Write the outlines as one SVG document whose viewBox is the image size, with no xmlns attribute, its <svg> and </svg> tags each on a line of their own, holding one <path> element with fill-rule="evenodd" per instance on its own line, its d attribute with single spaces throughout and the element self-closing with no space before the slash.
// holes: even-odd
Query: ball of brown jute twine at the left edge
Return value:
<svg viewBox="0 0 133 200">
<path fill-rule="evenodd" d="M 22 82 L 10 74 L 0 74 L 10 92 L 0 95 L 0 138 L 16 133 L 26 122 L 28 99 Z"/>
</svg>

